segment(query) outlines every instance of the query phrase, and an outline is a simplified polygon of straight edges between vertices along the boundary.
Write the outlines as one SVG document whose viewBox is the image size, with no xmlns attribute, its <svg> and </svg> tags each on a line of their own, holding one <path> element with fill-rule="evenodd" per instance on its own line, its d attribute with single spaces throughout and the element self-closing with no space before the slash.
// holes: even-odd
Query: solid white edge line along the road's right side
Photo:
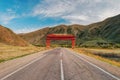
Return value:
<svg viewBox="0 0 120 80">
<path fill-rule="evenodd" d="M 87 62 L 88 64 L 92 65 L 93 67 L 95 67 L 95 68 L 101 70 L 102 72 L 108 74 L 110 77 L 112 77 L 112 78 L 114 78 L 114 79 L 116 79 L 116 80 L 120 80 L 120 78 L 118 78 L 117 76 L 114 76 L 114 75 L 112 75 L 111 73 L 105 71 L 104 69 L 98 67 L 97 65 L 95 65 L 95 64 L 93 64 L 93 63 L 91 63 L 91 62 L 85 60 L 84 58 L 80 57 L 80 55 L 78 55 L 78 54 L 74 54 L 74 53 L 72 53 L 72 54 L 75 55 L 76 57 L 82 59 L 83 61 Z"/>
</svg>

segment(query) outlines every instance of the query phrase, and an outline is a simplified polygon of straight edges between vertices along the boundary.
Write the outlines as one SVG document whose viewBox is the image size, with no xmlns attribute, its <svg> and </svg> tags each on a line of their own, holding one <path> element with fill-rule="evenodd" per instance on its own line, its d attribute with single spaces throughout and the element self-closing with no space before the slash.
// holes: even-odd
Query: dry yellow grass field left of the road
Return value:
<svg viewBox="0 0 120 80">
<path fill-rule="evenodd" d="M 0 63 L 15 58 L 27 56 L 43 50 L 45 50 L 45 47 L 35 46 L 19 47 L 0 43 Z"/>
</svg>

